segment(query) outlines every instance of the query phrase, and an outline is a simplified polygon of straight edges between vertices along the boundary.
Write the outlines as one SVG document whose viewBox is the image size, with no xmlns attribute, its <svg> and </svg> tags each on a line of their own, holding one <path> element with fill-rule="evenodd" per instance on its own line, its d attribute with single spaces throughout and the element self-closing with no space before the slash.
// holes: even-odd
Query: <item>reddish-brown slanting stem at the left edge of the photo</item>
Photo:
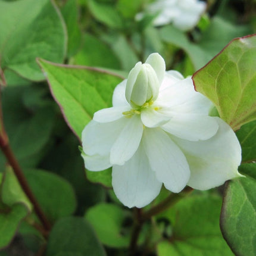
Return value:
<svg viewBox="0 0 256 256">
<path fill-rule="evenodd" d="M 13 167 L 13 171 L 15 173 L 15 176 L 18 179 L 18 182 L 20 183 L 21 188 L 26 193 L 30 202 L 32 202 L 35 213 L 38 216 L 39 220 L 41 221 L 43 227 L 45 228 L 45 231 L 48 232 L 51 229 L 51 225 L 47 220 L 45 214 L 43 213 L 42 209 L 40 208 L 40 205 L 36 200 L 32 190 L 30 189 L 29 183 L 27 182 L 26 177 L 24 176 L 23 171 L 21 170 L 20 165 L 18 164 L 18 161 L 15 158 L 15 155 L 13 154 L 13 151 L 11 150 L 9 139 L 4 128 L 1 93 L 0 93 L 0 147 L 5 157 L 7 158 L 8 163 L 10 164 L 11 167 Z"/>
</svg>

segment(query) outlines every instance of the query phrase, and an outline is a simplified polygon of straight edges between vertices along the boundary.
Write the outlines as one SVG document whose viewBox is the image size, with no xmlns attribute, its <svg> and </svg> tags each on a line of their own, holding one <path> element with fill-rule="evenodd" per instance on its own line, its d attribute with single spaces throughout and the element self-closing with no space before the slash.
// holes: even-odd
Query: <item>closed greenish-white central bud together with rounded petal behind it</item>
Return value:
<svg viewBox="0 0 256 256">
<path fill-rule="evenodd" d="M 145 64 L 139 62 L 132 68 L 126 83 L 126 99 L 132 107 L 157 99 L 164 71 L 164 60 L 159 54 L 149 55 Z"/>
</svg>

